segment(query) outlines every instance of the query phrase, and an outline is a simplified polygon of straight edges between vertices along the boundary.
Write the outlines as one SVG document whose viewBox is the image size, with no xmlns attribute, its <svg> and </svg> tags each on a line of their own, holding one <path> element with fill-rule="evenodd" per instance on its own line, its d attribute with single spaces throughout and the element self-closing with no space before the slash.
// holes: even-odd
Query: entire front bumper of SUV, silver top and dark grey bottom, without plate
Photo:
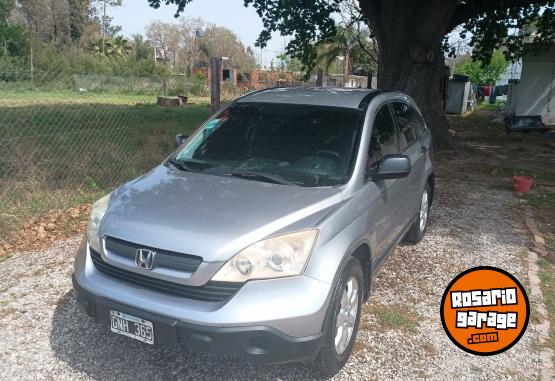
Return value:
<svg viewBox="0 0 555 381">
<path fill-rule="evenodd" d="M 251 281 L 224 302 L 162 294 L 98 271 L 83 244 L 75 259 L 76 299 L 107 326 L 110 310 L 150 320 L 156 344 L 243 355 L 257 362 L 313 358 L 322 341 L 330 285 L 306 276 Z"/>
</svg>

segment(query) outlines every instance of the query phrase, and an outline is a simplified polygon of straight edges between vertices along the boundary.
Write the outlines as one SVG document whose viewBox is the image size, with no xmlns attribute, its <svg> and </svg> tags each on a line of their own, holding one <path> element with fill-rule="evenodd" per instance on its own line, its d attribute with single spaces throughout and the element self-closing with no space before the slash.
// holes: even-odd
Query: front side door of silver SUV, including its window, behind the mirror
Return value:
<svg viewBox="0 0 555 381">
<path fill-rule="evenodd" d="M 368 227 L 378 259 L 387 252 L 402 228 L 403 191 L 401 179 L 370 180 L 369 175 L 379 170 L 385 155 L 399 152 L 398 138 L 391 108 L 389 104 L 383 104 L 372 124 L 365 185 L 371 198 Z"/>
</svg>

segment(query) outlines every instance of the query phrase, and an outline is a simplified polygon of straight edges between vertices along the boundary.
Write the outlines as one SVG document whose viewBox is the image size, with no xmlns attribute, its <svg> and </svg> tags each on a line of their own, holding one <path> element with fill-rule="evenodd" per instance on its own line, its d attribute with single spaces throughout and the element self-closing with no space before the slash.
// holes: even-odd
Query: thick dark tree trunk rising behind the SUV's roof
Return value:
<svg viewBox="0 0 555 381">
<path fill-rule="evenodd" d="M 440 86 L 444 73 L 442 41 L 456 0 L 360 0 L 360 5 L 378 41 L 378 88 L 411 96 L 432 132 L 434 148 L 453 148 Z M 434 22 L 424 22 L 430 19 Z"/>
</svg>

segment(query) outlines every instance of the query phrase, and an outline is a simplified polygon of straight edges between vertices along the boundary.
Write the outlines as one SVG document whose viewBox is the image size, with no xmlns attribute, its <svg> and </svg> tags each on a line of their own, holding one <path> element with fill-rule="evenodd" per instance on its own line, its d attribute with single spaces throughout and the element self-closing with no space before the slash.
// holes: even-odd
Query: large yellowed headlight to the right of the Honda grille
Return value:
<svg viewBox="0 0 555 381">
<path fill-rule="evenodd" d="M 246 282 L 250 279 L 300 275 L 312 253 L 318 230 L 304 230 L 257 242 L 226 262 L 212 280 Z"/>
</svg>

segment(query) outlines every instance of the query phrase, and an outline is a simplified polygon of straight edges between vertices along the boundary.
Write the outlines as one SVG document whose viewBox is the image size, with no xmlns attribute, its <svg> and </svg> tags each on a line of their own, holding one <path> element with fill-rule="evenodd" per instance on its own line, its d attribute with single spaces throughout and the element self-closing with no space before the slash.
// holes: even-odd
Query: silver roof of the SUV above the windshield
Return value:
<svg viewBox="0 0 555 381">
<path fill-rule="evenodd" d="M 370 89 L 348 89 L 334 87 L 279 87 L 255 91 L 237 102 L 287 103 L 314 106 L 359 108 L 362 100 L 377 93 Z"/>
</svg>

